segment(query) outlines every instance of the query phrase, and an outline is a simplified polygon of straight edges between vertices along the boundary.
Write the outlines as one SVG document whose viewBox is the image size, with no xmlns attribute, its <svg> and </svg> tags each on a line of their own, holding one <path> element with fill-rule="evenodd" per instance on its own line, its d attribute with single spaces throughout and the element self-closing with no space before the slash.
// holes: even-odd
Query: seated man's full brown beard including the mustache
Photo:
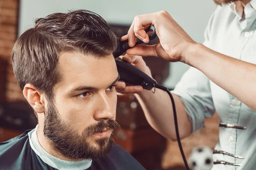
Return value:
<svg viewBox="0 0 256 170">
<path fill-rule="evenodd" d="M 88 141 L 89 137 L 102 132 L 105 127 L 112 130 L 110 137 Z M 76 130 L 59 118 L 58 111 L 52 102 L 47 107 L 44 119 L 44 136 L 48 139 L 47 142 L 52 149 L 66 158 L 75 160 L 96 160 L 110 153 L 114 142 L 114 131 L 119 128 L 120 125 L 112 119 L 108 119 L 106 122 L 102 120 L 89 125 L 84 129 L 82 135 L 79 135 Z"/>
</svg>

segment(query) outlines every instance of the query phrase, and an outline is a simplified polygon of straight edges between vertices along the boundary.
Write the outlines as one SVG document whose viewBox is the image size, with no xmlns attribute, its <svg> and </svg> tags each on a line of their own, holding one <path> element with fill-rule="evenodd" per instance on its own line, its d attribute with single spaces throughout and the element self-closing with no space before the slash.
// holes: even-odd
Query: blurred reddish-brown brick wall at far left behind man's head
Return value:
<svg viewBox="0 0 256 170">
<path fill-rule="evenodd" d="M 17 38 L 18 4 L 19 0 L 0 0 L 0 77 L 5 80 L 0 96 L 7 102 L 24 100 L 10 65 L 12 47 Z"/>
</svg>

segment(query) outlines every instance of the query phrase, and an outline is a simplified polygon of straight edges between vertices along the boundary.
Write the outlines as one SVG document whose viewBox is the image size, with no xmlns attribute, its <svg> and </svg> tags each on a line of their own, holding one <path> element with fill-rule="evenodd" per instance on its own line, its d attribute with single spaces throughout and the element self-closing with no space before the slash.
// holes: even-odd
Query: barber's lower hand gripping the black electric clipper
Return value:
<svg viewBox="0 0 256 170">
<path fill-rule="evenodd" d="M 139 68 L 145 74 L 148 74 L 149 77 L 152 77 L 151 71 L 149 70 L 148 66 L 146 65 L 145 61 L 141 56 L 136 55 L 124 55 L 120 56 L 124 61 L 131 63 L 135 67 Z M 127 94 L 137 94 L 143 91 L 142 86 L 133 86 L 133 85 L 126 85 L 125 82 L 117 82 L 116 84 L 116 92 L 117 95 L 127 95 Z"/>
</svg>

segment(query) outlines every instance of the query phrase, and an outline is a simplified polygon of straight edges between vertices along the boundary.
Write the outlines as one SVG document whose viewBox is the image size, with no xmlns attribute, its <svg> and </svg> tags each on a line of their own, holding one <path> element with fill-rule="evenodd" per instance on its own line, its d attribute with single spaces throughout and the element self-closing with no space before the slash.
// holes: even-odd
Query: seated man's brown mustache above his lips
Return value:
<svg viewBox="0 0 256 170">
<path fill-rule="evenodd" d="M 104 128 L 115 131 L 120 129 L 121 127 L 115 120 L 112 120 L 112 119 L 108 119 L 107 121 L 101 120 L 98 123 L 89 125 L 85 129 L 83 136 L 88 137 L 88 136 L 94 135 L 95 133 L 102 133 Z"/>
</svg>

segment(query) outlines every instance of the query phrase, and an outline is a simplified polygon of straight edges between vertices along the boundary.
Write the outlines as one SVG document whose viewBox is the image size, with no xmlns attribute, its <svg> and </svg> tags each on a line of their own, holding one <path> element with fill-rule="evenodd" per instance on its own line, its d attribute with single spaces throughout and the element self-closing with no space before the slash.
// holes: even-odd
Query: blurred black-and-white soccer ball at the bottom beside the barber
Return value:
<svg viewBox="0 0 256 170">
<path fill-rule="evenodd" d="M 191 170 L 210 170 L 213 166 L 212 149 L 206 146 L 195 147 L 189 157 Z"/>
</svg>

